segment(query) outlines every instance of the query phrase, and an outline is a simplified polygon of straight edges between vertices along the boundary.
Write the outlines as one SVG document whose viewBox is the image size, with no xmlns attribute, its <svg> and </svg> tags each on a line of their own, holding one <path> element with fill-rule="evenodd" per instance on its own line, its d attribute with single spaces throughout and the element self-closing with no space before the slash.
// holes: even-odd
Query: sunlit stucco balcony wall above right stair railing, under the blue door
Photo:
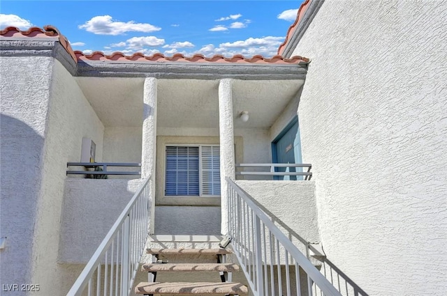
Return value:
<svg viewBox="0 0 447 296">
<path fill-rule="evenodd" d="M 237 180 L 235 182 L 304 240 L 320 242 L 313 181 Z M 279 228 L 284 231 L 282 227 Z"/>
</svg>

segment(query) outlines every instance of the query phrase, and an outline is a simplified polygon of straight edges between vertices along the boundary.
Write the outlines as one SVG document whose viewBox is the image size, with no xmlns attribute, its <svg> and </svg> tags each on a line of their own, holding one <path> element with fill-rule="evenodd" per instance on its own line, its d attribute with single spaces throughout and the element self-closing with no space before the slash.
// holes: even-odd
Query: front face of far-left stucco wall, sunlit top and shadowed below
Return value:
<svg viewBox="0 0 447 296">
<path fill-rule="evenodd" d="M 1 284 L 31 283 L 51 70 L 50 58 L 0 57 Z"/>
</svg>

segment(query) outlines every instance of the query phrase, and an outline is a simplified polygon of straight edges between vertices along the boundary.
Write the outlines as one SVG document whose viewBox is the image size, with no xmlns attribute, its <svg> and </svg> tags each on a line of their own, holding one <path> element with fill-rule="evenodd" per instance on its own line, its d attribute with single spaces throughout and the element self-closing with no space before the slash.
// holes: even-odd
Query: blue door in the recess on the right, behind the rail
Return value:
<svg viewBox="0 0 447 296">
<path fill-rule="evenodd" d="M 300 128 L 298 126 L 298 117 L 295 117 L 291 123 L 279 134 L 272 143 L 273 162 L 279 164 L 301 164 L 301 141 Z M 277 168 L 279 172 L 302 171 L 301 168 Z M 302 176 L 279 176 L 277 180 L 302 180 Z"/>
</svg>

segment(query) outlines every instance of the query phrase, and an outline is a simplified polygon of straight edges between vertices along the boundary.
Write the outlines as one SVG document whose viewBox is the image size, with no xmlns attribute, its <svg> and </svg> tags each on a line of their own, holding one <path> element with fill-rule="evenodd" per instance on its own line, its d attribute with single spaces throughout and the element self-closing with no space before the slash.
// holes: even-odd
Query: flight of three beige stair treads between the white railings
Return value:
<svg viewBox="0 0 447 296">
<path fill-rule="evenodd" d="M 135 286 L 135 294 L 142 295 L 247 295 L 248 288 L 242 283 L 232 282 L 232 272 L 239 265 L 226 263 L 229 249 L 147 249 L 152 262 L 142 265 L 149 272 L 149 282 Z M 191 263 L 196 259 L 197 263 Z M 175 261 L 176 263 L 172 263 Z M 182 272 L 215 272 L 217 281 L 186 282 L 156 281 L 160 274 Z M 183 276 L 183 274 L 182 274 Z M 165 276 L 166 277 L 166 276 Z M 173 278 L 174 276 L 168 276 Z M 220 282 L 219 282 L 220 278 Z"/>
</svg>

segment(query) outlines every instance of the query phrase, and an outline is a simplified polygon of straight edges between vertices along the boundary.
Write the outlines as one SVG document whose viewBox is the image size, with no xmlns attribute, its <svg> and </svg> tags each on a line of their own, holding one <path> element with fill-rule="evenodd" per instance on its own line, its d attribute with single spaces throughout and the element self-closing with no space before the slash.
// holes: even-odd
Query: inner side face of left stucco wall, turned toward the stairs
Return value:
<svg viewBox="0 0 447 296">
<path fill-rule="evenodd" d="M 52 68 L 50 105 L 45 125 L 45 154 L 41 166 L 43 183 L 35 221 L 31 268 L 32 282 L 41 284 L 41 293 L 56 295 L 57 291 L 68 289 L 61 286 L 66 269 L 57 265 L 66 162 L 80 160 L 82 137 L 93 139 L 96 160 L 101 161 L 104 130 L 78 84 L 59 61 L 54 61 Z"/>
</svg>

